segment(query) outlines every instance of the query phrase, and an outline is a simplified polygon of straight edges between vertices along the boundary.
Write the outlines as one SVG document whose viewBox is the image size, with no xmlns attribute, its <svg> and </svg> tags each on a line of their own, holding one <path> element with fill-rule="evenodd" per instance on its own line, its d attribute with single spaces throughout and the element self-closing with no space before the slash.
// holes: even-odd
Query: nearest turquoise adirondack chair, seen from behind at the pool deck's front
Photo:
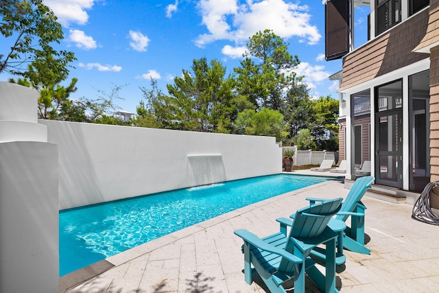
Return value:
<svg viewBox="0 0 439 293">
<path fill-rule="evenodd" d="M 270 292 L 284 292 L 283 283 L 294 277 L 294 292 L 305 292 L 305 272 L 323 292 L 335 289 L 335 239 L 337 233 L 328 223 L 342 207 L 342 198 L 311 204 L 296 212 L 289 229 L 259 238 L 244 229 L 235 234 L 244 239 L 244 279 L 252 283 L 252 265 Z M 326 274 L 322 274 L 309 257 L 311 250 L 326 244 Z"/>
</svg>

